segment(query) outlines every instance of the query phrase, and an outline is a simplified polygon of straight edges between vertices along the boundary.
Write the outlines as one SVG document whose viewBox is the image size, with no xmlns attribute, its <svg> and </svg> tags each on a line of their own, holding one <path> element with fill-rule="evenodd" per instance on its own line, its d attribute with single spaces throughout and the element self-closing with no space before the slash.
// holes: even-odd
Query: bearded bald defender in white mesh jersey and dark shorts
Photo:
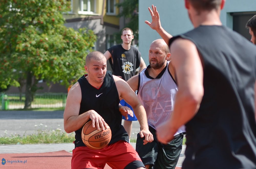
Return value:
<svg viewBox="0 0 256 169">
<path fill-rule="evenodd" d="M 147 113 L 148 126 L 154 141 L 144 145 L 138 136 L 136 151 L 146 168 L 175 168 L 182 150 L 185 126 L 182 126 L 168 144 L 156 139 L 156 130 L 173 111 L 175 94 L 178 91 L 175 82 L 175 70 L 171 62 L 168 45 L 163 39 L 153 41 L 149 49 L 150 65 L 129 79 L 127 83 L 136 91 Z"/>
</svg>

